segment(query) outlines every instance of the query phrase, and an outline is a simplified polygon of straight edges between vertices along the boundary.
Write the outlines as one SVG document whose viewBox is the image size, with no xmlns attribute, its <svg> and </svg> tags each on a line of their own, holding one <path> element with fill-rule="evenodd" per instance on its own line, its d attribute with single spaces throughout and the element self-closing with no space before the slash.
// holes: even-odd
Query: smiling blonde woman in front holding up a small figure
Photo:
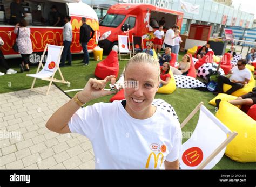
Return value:
<svg viewBox="0 0 256 187">
<path fill-rule="evenodd" d="M 83 91 L 53 113 L 46 127 L 89 138 L 96 169 L 178 169 L 179 122 L 152 105 L 160 83 L 159 63 L 146 53 L 133 56 L 125 68 L 124 81 L 134 87 L 124 88 L 125 100 L 80 108 L 105 96 L 104 87 L 112 77 L 90 78 Z M 155 161 L 152 154 L 161 156 Z"/>
</svg>

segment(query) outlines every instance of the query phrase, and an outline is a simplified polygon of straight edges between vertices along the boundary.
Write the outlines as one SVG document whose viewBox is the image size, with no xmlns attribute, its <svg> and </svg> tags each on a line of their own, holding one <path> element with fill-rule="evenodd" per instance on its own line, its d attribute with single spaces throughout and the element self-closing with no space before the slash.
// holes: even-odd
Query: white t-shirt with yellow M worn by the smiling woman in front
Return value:
<svg viewBox="0 0 256 187">
<path fill-rule="evenodd" d="M 179 121 L 158 106 L 152 117 L 139 120 L 121 101 L 96 103 L 79 109 L 68 125 L 92 142 L 96 169 L 164 169 L 165 160 L 179 158 Z"/>
</svg>

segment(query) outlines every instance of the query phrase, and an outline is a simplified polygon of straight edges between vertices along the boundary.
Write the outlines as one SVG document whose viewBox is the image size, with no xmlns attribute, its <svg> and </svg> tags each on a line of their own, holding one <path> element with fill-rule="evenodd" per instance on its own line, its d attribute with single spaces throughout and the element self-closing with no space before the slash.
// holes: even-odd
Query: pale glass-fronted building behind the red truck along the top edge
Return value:
<svg viewBox="0 0 256 187">
<path fill-rule="evenodd" d="M 254 15 L 240 11 L 213 0 L 82 0 L 86 4 L 93 6 L 97 15 L 102 18 L 107 9 L 116 3 L 149 3 L 161 8 L 173 9 L 184 12 L 183 26 L 181 34 L 189 31 L 191 24 L 211 25 L 212 33 L 223 33 L 223 29 L 227 26 L 239 26 L 241 28 L 252 28 Z M 180 1 L 199 5 L 199 13 L 187 13 L 181 8 Z M 224 2 L 224 0 L 219 0 Z M 226 0 L 225 3 L 230 4 L 232 1 Z"/>
</svg>

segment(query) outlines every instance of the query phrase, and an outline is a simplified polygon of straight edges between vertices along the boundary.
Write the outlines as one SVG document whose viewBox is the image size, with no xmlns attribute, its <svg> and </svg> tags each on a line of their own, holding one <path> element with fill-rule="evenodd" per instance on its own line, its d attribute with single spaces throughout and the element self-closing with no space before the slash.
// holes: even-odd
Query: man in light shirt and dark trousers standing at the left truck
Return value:
<svg viewBox="0 0 256 187">
<path fill-rule="evenodd" d="M 70 24 L 71 17 L 65 16 L 64 18 L 64 29 L 63 29 L 63 52 L 62 52 L 62 59 L 60 60 L 59 67 L 65 66 L 66 57 L 68 56 L 68 63 L 67 65 L 71 66 L 72 56 L 70 51 L 70 46 L 72 43 L 72 25 Z"/>
</svg>

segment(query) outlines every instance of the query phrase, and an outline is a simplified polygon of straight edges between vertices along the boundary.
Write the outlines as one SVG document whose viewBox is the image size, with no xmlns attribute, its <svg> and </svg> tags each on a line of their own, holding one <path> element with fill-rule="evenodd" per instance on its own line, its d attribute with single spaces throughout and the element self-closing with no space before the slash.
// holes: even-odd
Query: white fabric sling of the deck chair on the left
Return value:
<svg viewBox="0 0 256 187">
<path fill-rule="evenodd" d="M 62 46 L 48 45 L 48 55 L 44 68 L 39 71 L 37 74 L 28 74 L 26 76 L 35 77 L 35 78 L 49 78 L 57 71 L 59 66 L 59 53 L 62 49 Z"/>
</svg>

